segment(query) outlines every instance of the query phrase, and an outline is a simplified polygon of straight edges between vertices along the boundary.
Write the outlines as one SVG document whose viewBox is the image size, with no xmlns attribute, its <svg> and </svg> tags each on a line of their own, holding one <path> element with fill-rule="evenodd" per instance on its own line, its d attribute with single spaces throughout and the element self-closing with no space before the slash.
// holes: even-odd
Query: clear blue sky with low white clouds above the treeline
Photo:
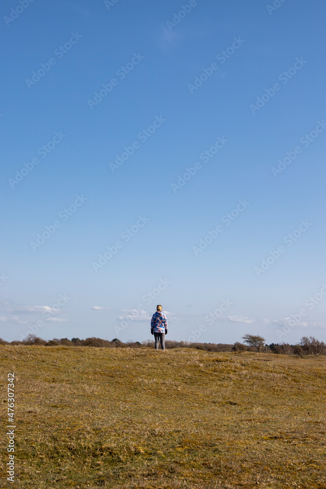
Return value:
<svg viewBox="0 0 326 489">
<path fill-rule="evenodd" d="M 0 335 L 142 341 L 162 304 L 170 339 L 325 340 L 325 6 L 26 2 L 1 4 Z"/>
</svg>

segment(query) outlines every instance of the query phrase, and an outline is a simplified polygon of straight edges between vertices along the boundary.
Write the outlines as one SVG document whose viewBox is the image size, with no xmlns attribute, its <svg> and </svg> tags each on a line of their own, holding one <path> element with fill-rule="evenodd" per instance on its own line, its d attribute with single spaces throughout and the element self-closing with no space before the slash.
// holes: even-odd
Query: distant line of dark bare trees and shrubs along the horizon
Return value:
<svg viewBox="0 0 326 489">
<path fill-rule="evenodd" d="M 34 346 L 94 346 L 98 348 L 154 348 L 154 341 L 145 340 L 141 343 L 139 341 L 127 341 L 124 343 L 118 338 L 113 338 L 112 341 L 96 338 L 79 339 L 79 338 L 53 338 L 51 340 L 44 340 L 29 334 L 22 341 L 5 341 L 0 338 L 0 345 L 34 345 Z M 166 340 L 165 347 L 167 349 L 173 348 L 195 348 L 196 350 L 205 350 L 207 352 L 257 352 L 258 348 L 248 346 L 238 341 L 233 345 L 226 343 L 188 343 L 187 341 L 173 341 Z M 264 345 L 261 347 L 261 353 L 275 353 L 283 355 L 326 355 L 326 344 L 323 341 L 319 341 L 313 336 L 309 338 L 304 336 L 301 338 L 300 343 L 296 345 L 290 345 L 288 343 L 271 343 L 270 345 Z"/>
</svg>

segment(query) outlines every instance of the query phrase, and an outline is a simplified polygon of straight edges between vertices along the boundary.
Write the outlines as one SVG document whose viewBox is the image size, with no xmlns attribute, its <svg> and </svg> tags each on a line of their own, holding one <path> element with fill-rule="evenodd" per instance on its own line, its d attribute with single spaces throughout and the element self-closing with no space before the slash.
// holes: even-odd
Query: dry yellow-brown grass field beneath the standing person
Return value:
<svg viewBox="0 0 326 489">
<path fill-rule="evenodd" d="M 1 346 L 20 489 L 326 488 L 326 357 Z"/>
</svg>

